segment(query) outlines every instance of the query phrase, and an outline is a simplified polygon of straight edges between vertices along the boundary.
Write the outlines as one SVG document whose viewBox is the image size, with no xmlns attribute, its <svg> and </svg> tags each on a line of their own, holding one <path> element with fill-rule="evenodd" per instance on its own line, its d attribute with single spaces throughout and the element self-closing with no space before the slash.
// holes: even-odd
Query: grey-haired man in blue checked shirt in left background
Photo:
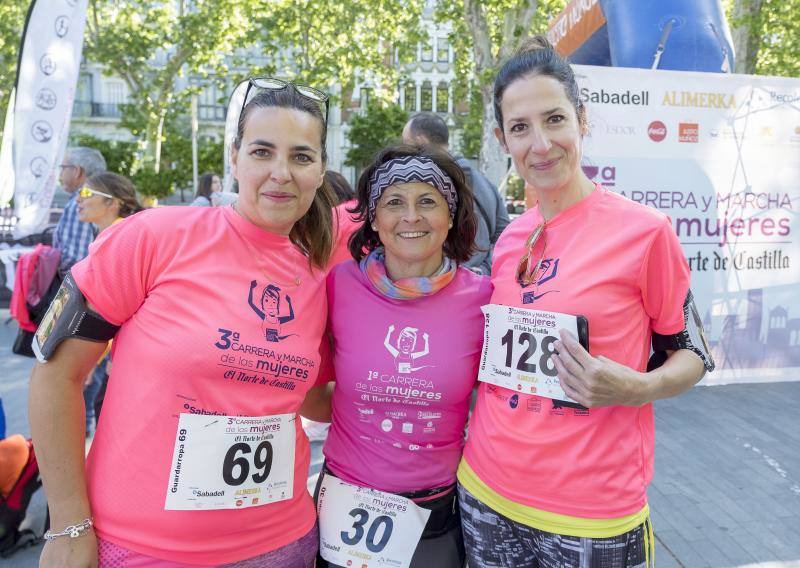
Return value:
<svg viewBox="0 0 800 568">
<path fill-rule="evenodd" d="M 83 187 L 88 178 L 106 170 L 106 160 L 94 148 L 77 146 L 67 150 L 59 169 L 58 179 L 61 187 L 70 195 L 53 233 L 53 248 L 61 252 L 59 272 L 63 274 L 73 264 L 86 257 L 89 253 L 89 244 L 94 240 L 94 228 L 91 223 L 78 219 L 76 192 Z"/>
</svg>

